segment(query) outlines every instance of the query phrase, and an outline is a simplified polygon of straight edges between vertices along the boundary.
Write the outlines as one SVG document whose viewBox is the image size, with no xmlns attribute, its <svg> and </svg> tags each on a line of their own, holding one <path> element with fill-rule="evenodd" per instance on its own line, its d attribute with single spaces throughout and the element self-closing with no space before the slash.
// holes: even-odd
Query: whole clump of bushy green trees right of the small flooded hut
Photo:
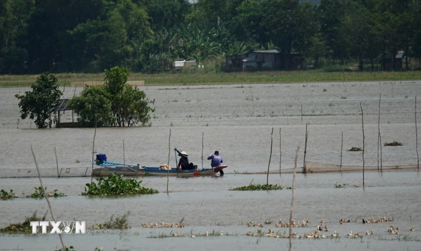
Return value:
<svg viewBox="0 0 421 251">
<path fill-rule="evenodd" d="M 86 86 L 80 96 L 70 100 L 69 106 L 79 115 L 84 126 L 148 125 L 149 104 L 144 91 L 127 84 L 128 69 L 113 67 L 105 70 L 103 86 Z"/>
</svg>

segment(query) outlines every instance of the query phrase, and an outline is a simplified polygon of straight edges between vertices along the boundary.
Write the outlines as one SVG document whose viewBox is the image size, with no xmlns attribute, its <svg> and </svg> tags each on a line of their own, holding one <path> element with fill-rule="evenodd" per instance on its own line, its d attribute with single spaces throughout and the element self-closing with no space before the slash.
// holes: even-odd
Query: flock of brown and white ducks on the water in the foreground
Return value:
<svg viewBox="0 0 421 251">
<path fill-rule="evenodd" d="M 392 219 L 391 218 L 386 219 L 386 217 L 380 217 L 380 218 L 374 219 L 372 217 L 371 219 L 362 219 L 362 223 L 363 224 L 367 224 L 367 223 L 379 223 L 379 222 L 390 222 L 390 221 L 393 221 L 393 218 Z M 341 225 L 342 224 L 345 224 L 345 223 L 349 223 L 349 222 L 351 222 L 351 220 L 344 220 L 344 219 L 340 219 L 339 220 L 339 224 L 341 224 Z M 266 225 L 267 224 L 271 224 L 271 223 L 272 223 L 271 221 L 265 221 L 264 222 L 264 224 L 266 224 Z M 310 220 L 309 219 L 302 220 L 302 221 L 300 221 L 298 223 L 296 221 L 292 220 L 291 221 L 291 227 L 310 227 L 309 226 L 309 223 L 310 223 Z M 257 226 L 258 228 L 257 228 L 256 232 L 253 232 L 252 230 L 249 230 L 245 235 L 246 236 L 259 236 L 259 237 L 261 237 L 261 236 L 264 236 L 264 237 L 275 237 L 275 238 L 289 238 L 290 237 L 290 236 L 287 236 L 285 234 L 278 234 L 279 231 L 278 231 L 278 233 L 275 233 L 275 231 L 273 231 L 270 228 L 269 228 L 269 230 L 267 230 L 267 233 L 265 233 L 265 231 L 261 229 L 261 227 L 264 227 L 264 224 L 261 223 L 261 222 L 260 223 L 254 223 L 253 221 L 247 222 L 247 226 L 248 227 L 256 227 Z M 184 227 L 184 224 L 182 224 L 182 223 L 169 224 L 169 223 L 164 223 L 164 222 L 161 223 L 161 224 L 158 224 L 158 223 L 155 223 L 155 224 L 152 224 L 152 223 L 149 223 L 149 224 L 142 223 L 142 227 L 149 227 L 149 228 L 179 227 L 179 228 L 182 228 L 182 227 Z M 290 227 L 290 223 L 289 222 L 283 222 L 282 219 L 279 219 L 279 222 L 275 224 L 275 227 L 284 227 L 284 228 Z M 391 235 L 399 235 L 398 230 L 399 230 L 399 227 L 394 227 L 393 225 L 391 225 L 389 227 L 389 229 L 388 229 L 388 233 L 391 234 Z M 409 230 L 410 231 L 414 231 L 415 230 L 415 226 L 412 226 Z M 328 231 L 329 231 L 328 226 L 326 224 L 324 224 L 324 220 L 322 219 L 320 221 L 320 224 L 317 226 L 317 228 L 316 228 L 315 231 L 310 232 L 310 233 L 307 233 L 307 234 L 304 234 L 304 235 L 297 235 L 297 233 L 292 233 L 291 234 L 291 238 L 323 239 L 323 238 L 328 238 L 329 237 L 329 235 L 323 234 L 323 232 L 328 232 Z M 181 237 L 182 236 L 182 235 L 180 235 L 178 233 L 172 233 L 171 235 L 173 237 Z M 224 235 L 224 232 L 221 231 L 219 233 L 219 235 L 221 235 L 221 236 Z M 361 238 L 364 235 L 366 235 L 366 236 L 367 235 L 374 235 L 374 231 L 373 230 L 371 230 L 371 231 L 367 230 L 365 234 L 360 234 L 358 232 L 353 233 L 352 231 L 350 231 L 350 233 L 348 233 L 346 235 L 346 237 L 347 238 Z M 209 233 L 206 231 L 205 234 L 200 235 L 200 236 L 209 236 Z M 196 235 L 191 235 L 190 237 L 195 238 Z M 330 235 L 330 238 L 339 238 L 339 234 L 336 231 L 334 231 Z"/>
</svg>

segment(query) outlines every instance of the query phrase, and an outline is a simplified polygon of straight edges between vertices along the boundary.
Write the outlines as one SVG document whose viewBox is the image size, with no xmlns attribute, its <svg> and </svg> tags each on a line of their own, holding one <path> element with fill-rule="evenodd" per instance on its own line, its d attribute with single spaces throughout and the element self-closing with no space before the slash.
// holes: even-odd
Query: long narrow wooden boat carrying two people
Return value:
<svg viewBox="0 0 421 251">
<path fill-rule="evenodd" d="M 100 177 L 100 176 L 109 176 L 113 173 L 115 175 L 124 175 L 124 176 L 178 176 L 178 177 L 190 177 L 190 176 L 214 176 L 220 170 L 226 168 L 227 166 L 218 166 L 215 168 L 203 168 L 203 169 L 191 169 L 191 170 L 177 170 L 170 169 L 165 170 L 160 167 L 150 167 L 150 166 L 140 166 L 140 165 L 131 165 L 123 164 L 118 162 L 103 161 L 101 164 L 93 162 L 93 165 L 97 166 L 92 171 L 91 176 Z"/>
</svg>

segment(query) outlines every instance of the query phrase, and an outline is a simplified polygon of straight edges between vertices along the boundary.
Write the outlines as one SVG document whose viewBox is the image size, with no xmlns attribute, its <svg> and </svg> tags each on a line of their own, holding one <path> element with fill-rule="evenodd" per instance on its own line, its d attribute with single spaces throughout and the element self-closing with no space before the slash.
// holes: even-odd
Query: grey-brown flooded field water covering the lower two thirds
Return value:
<svg viewBox="0 0 421 251">
<path fill-rule="evenodd" d="M 381 93 L 380 131 L 382 142 L 398 141 L 403 146 L 382 147 L 382 163 L 389 166 L 413 165 L 417 162 L 415 140 L 415 95 L 421 92 L 421 82 L 358 82 L 259 84 L 223 86 L 141 87 L 155 99 L 151 127 L 99 128 L 94 151 L 106 153 L 108 160 L 130 164 L 158 166 L 168 161 L 175 166 L 174 149 L 189 155 L 189 160 L 203 167 L 210 166 L 206 157 L 219 150 L 228 165 L 223 177 L 169 178 L 168 195 L 165 177 L 145 177 L 143 184 L 160 194 L 123 198 L 87 198 L 84 191 L 90 177 L 44 178 L 45 186 L 58 189 L 67 197 L 51 199 L 55 217 L 59 220 L 86 221 L 87 227 L 103 223 L 111 215 L 130 211 L 128 230 L 92 232 L 88 235 L 65 235 L 67 246 L 75 250 L 256 250 L 257 248 L 288 249 L 288 239 L 251 237 L 245 234 L 258 227 L 246 223 L 271 221 L 261 227 L 283 234 L 288 228 L 276 227 L 279 219 L 288 222 L 291 190 L 231 191 L 251 182 L 264 184 L 266 175 L 247 174 L 267 170 L 274 128 L 270 170 L 294 166 L 295 150 L 300 145 L 298 165 L 302 166 L 305 124 L 308 123 L 306 160 L 339 164 L 341 133 L 343 132 L 343 165 L 362 165 L 362 152 L 346 151 L 362 147 L 360 103 L 364 112 L 365 164 L 377 165 L 378 99 Z M 54 147 L 59 167 L 89 167 L 92 158 L 93 128 L 34 129 L 30 120 L 20 117 L 14 94 L 29 88 L 0 88 L 0 169 L 35 168 L 30 145 L 41 168 L 55 168 Z M 82 88 L 76 88 L 76 94 Z M 66 87 L 65 98 L 74 89 Z M 302 110 L 301 110 L 302 107 Z M 418 110 L 418 108 L 417 108 Z M 419 115 L 417 123 L 419 126 Z M 71 121 L 71 112 L 62 119 Z M 281 128 L 281 149 L 279 141 Z M 2 173 L 0 173 L 2 177 Z M 293 240 L 294 250 L 419 250 L 421 235 L 420 175 L 416 171 L 366 172 L 366 188 L 362 175 L 350 173 L 297 174 L 293 219 L 310 219 L 308 228 L 293 228 L 297 235 L 316 230 L 321 219 L 339 239 Z M 292 175 L 271 174 L 269 183 L 291 186 Z M 348 184 L 348 188 L 334 188 Z M 0 179 L 0 189 L 13 189 L 17 196 L 30 194 L 39 180 Z M 44 214 L 45 200 L 17 198 L 0 201 L 0 228 L 22 222 L 37 210 Z M 362 224 L 362 219 L 393 218 L 393 222 Z M 51 217 L 47 215 L 47 219 Z M 177 223 L 184 228 L 143 228 L 142 223 Z M 339 224 L 340 219 L 352 222 Z M 354 222 L 356 220 L 356 222 Z M 390 235 L 390 225 L 399 227 L 399 235 Z M 415 231 L 409 231 L 415 226 Z M 375 235 L 362 239 L 346 238 L 350 231 Z M 172 232 L 171 232 L 172 231 Z M 224 231 L 223 236 L 204 237 L 206 231 Z M 188 237 L 163 237 L 177 232 Z M 190 238 L 194 234 L 196 238 Z M 55 250 L 60 248 L 54 235 L 2 235 L 0 250 Z"/>
</svg>

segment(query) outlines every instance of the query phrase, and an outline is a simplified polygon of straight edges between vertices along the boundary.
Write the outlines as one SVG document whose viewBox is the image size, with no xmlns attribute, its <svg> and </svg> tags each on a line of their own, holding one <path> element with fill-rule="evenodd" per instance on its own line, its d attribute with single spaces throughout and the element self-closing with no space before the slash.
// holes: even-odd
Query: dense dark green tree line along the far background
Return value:
<svg viewBox="0 0 421 251">
<path fill-rule="evenodd" d="M 168 68 L 256 49 L 355 60 L 421 56 L 419 0 L 2 0 L 0 74 Z"/>
</svg>

